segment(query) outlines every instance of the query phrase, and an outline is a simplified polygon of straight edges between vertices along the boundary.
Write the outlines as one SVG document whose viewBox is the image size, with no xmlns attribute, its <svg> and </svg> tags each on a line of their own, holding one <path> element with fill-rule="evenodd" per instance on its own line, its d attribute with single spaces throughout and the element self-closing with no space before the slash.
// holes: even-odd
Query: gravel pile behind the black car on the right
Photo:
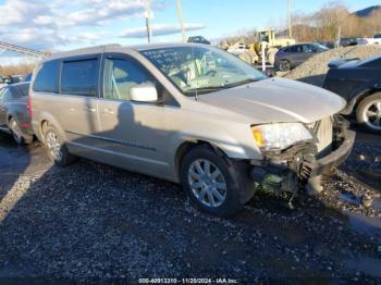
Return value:
<svg viewBox="0 0 381 285">
<path fill-rule="evenodd" d="M 328 72 L 328 63 L 331 60 L 339 58 L 347 59 L 366 59 L 368 57 L 380 54 L 381 47 L 378 45 L 371 46 L 353 46 L 339 49 L 331 49 L 325 52 L 318 53 L 317 55 L 308 59 L 290 73 L 285 74 L 284 77 L 291 79 L 298 79 L 317 86 L 322 86 L 324 76 Z"/>
</svg>

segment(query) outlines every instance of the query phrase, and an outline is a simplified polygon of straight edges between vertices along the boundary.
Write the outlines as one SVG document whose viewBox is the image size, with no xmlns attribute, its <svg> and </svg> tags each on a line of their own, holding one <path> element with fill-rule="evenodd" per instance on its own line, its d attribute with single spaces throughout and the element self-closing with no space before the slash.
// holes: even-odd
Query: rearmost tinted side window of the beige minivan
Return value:
<svg viewBox="0 0 381 285">
<path fill-rule="evenodd" d="M 58 61 L 49 61 L 39 65 L 33 90 L 39 92 L 57 92 Z"/>
</svg>

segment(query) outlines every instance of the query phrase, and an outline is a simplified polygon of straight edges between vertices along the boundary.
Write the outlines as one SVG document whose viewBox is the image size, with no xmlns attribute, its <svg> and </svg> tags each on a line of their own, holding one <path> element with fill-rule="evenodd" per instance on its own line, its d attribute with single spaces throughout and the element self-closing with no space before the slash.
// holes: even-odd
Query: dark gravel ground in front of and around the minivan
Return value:
<svg viewBox="0 0 381 285">
<path fill-rule="evenodd" d="M 380 142 L 360 133 L 324 193 L 299 196 L 293 210 L 258 194 L 242 213 L 218 219 L 174 184 L 85 160 L 59 169 L 38 144 L 17 148 L 1 134 L 0 282 L 381 277 Z"/>
</svg>

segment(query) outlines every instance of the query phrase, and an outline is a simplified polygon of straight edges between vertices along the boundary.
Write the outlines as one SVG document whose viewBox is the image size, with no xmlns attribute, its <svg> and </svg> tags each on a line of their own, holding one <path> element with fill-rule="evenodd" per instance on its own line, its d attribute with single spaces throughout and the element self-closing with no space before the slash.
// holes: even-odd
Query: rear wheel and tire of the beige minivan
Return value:
<svg viewBox="0 0 381 285">
<path fill-rule="evenodd" d="M 63 142 L 64 140 L 57 132 L 56 127 L 48 125 L 44 132 L 44 145 L 47 149 L 48 157 L 54 164 L 59 166 L 66 166 L 72 164 L 76 157 L 71 154 L 67 147 Z"/>
</svg>

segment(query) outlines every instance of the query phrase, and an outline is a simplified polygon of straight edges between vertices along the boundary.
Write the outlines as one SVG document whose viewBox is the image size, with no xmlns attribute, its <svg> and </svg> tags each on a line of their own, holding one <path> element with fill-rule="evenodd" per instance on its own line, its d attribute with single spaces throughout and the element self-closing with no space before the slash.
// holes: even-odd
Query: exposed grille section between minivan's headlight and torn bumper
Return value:
<svg viewBox="0 0 381 285">
<path fill-rule="evenodd" d="M 318 158 L 324 157 L 331 152 L 332 146 L 332 117 L 328 116 L 312 124 L 308 127 L 314 132 L 318 139 L 316 146 L 318 148 Z"/>
</svg>

